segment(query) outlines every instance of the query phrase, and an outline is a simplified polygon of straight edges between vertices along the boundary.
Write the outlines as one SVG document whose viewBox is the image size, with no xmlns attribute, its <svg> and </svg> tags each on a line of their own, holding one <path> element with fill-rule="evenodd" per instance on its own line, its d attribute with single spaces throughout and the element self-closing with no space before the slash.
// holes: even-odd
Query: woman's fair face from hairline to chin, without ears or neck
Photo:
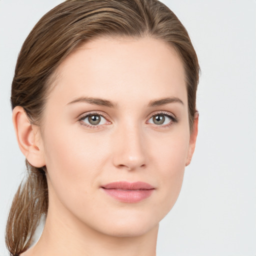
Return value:
<svg viewBox="0 0 256 256">
<path fill-rule="evenodd" d="M 176 201 L 191 157 L 181 60 L 157 39 L 100 38 L 56 72 L 40 127 L 48 214 L 146 233 Z"/>
</svg>

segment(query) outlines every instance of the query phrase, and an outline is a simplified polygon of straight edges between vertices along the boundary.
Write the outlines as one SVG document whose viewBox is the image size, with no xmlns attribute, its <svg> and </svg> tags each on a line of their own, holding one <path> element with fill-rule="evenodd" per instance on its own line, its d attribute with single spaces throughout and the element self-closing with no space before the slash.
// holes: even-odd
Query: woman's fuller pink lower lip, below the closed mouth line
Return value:
<svg viewBox="0 0 256 256">
<path fill-rule="evenodd" d="M 154 189 L 140 189 L 140 190 L 122 190 L 122 189 L 102 189 L 111 197 L 121 202 L 139 202 L 151 195 Z"/>
</svg>

